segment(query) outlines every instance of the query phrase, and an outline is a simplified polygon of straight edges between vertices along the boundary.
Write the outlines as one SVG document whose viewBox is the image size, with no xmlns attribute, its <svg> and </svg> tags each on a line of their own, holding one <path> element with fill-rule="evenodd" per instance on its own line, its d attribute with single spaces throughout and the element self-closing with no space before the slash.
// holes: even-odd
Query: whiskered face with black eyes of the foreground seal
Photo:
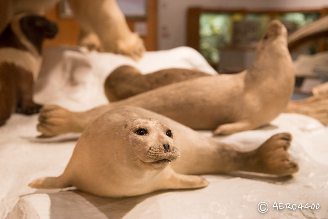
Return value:
<svg viewBox="0 0 328 219">
<path fill-rule="evenodd" d="M 130 146 L 134 148 L 137 165 L 161 169 L 180 157 L 172 130 L 162 122 L 135 118 L 126 124 Z"/>
</svg>

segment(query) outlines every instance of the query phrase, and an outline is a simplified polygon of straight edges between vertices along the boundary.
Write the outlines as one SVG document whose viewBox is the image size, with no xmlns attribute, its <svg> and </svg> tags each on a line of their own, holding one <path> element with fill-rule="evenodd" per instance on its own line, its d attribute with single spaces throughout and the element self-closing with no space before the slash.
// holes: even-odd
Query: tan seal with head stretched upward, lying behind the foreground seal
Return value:
<svg viewBox="0 0 328 219">
<path fill-rule="evenodd" d="M 142 107 L 193 129 L 231 134 L 257 128 L 286 108 L 294 89 L 294 69 L 287 49 L 287 31 L 272 21 L 258 43 L 253 65 L 237 74 L 199 77 L 170 84 L 86 112 L 59 106 L 41 110 L 38 130 L 45 136 L 82 132 L 94 115 L 122 105 Z"/>
</svg>

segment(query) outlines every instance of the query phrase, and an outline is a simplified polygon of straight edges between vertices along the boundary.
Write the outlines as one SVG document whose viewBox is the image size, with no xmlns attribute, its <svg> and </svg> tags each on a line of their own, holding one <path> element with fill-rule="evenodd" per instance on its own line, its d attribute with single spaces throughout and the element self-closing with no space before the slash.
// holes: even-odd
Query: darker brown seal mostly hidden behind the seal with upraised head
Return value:
<svg viewBox="0 0 328 219">
<path fill-rule="evenodd" d="M 120 66 L 105 80 L 105 94 L 110 102 L 153 90 L 164 85 L 211 74 L 189 69 L 170 68 L 148 74 L 132 66 Z"/>
</svg>

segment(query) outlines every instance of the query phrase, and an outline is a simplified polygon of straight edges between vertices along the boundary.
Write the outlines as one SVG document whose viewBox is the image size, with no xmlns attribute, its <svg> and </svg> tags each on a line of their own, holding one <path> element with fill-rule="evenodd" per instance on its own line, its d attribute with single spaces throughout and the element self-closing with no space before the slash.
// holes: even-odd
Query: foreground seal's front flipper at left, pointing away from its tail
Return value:
<svg viewBox="0 0 328 219">
<path fill-rule="evenodd" d="M 62 176 L 58 176 L 35 179 L 28 186 L 35 189 L 61 189 L 70 187 L 70 184 L 63 180 Z"/>
</svg>

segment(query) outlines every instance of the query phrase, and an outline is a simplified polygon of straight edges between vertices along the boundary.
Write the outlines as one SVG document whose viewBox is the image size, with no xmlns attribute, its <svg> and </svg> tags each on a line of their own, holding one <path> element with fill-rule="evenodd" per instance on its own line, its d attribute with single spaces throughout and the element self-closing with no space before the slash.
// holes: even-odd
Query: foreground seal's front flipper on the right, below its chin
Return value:
<svg viewBox="0 0 328 219">
<path fill-rule="evenodd" d="M 199 189 L 210 185 L 210 183 L 201 176 L 179 174 L 171 168 L 166 168 L 163 173 L 163 179 L 158 185 L 158 190 Z"/>
</svg>

